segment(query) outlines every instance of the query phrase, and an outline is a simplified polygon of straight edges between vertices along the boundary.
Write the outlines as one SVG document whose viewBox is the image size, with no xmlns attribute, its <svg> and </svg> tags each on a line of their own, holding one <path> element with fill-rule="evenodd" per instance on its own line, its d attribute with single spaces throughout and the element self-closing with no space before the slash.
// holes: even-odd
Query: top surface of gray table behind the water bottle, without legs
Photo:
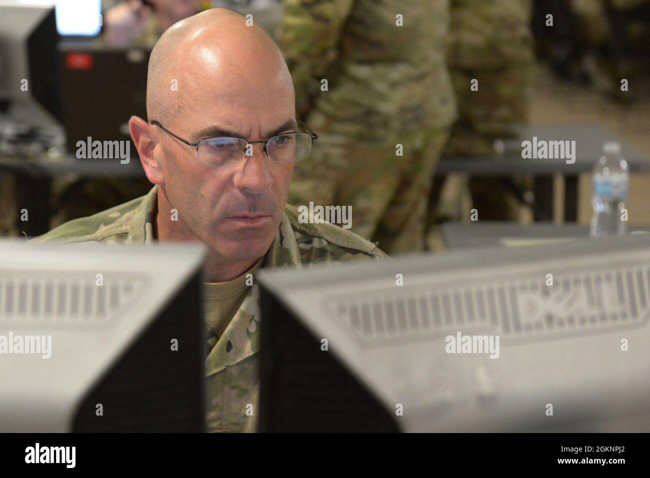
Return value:
<svg viewBox="0 0 650 478">
<path fill-rule="evenodd" d="M 649 127 L 650 132 L 650 127 Z M 521 143 L 532 142 L 533 136 L 545 141 L 575 141 L 575 162 L 567 164 L 564 159 L 524 159 L 521 157 Z M 627 160 L 630 172 L 648 170 L 648 162 L 642 153 L 632 145 L 617 138 L 616 134 L 599 125 L 528 125 L 519 128 L 519 136 L 504 140 L 502 156 L 487 157 L 444 157 L 438 163 L 437 175 L 454 172 L 482 176 L 512 174 L 577 176 L 588 173 L 603 155 L 603 143 L 617 141 L 621 154 Z"/>
</svg>

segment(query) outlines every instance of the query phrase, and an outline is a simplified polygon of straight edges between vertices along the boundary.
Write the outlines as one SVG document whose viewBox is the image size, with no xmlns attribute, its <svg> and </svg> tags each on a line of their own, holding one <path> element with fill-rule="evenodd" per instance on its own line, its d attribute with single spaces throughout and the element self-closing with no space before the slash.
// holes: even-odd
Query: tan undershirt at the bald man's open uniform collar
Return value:
<svg viewBox="0 0 650 478">
<path fill-rule="evenodd" d="M 252 268 L 232 281 L 203 283 L 205 323 L 217 339 L 222 336 L 248 294 L 251 286 L 246 285 L 246 275 L 254 273 L 263 261 L 264 257 L 261 257 Z"/>
</svg>

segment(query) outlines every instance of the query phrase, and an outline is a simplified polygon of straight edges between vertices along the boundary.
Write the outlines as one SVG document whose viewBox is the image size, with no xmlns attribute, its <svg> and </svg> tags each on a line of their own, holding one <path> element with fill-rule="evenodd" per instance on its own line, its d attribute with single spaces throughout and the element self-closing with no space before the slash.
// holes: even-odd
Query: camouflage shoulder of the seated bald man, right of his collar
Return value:
<svg viewBox="0 0 650 478">
<path fill-rule="evenodd" d="M 388 258 L 374 242 L 337 225 L 301 223 L 298 221 L 298 209 L 294 206 L 287 205 L 285 213 L 291 222 L 303 262 Z"/>
</svg>

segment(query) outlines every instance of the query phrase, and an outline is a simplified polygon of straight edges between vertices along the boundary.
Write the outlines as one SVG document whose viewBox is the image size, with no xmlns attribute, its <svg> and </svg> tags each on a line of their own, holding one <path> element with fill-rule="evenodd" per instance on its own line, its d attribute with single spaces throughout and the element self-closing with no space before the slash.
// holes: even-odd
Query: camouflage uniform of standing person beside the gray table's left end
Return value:
<svg viewBox="0 0 650 478">
<path fill-rule="evenodd" d="M 452 0 L 448 66 L 459 120 L 446 156 L 494 155 L 494 142 L 528 121 L 534 77 L 530 0 Z M 478 91 L 471 81 L 478 80 Z M 517 179 L 532 188 L 530 179 Z M 469 190 L 479 218 L 517 220 L 517 200 L 499 179 L 476 177 Z"/>
</svg>

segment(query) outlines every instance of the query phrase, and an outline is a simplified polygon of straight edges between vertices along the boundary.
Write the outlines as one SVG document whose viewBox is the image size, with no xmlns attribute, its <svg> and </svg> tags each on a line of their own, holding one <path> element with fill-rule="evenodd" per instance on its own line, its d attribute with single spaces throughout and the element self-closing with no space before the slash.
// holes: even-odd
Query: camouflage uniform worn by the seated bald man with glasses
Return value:
<svg viewBox="0 0 650 478">
<path fill-rule="evenodd" d="M 144 197 L 70 221 L 32 242 L 112 242 L 151 244 L 157 186 Z M 287 205 L 266 253 L 263 268 L 302 268 L 318 262 L 382 259 L 371 242 L 331 224 L 302 224 L 298 210 Z M 253 281 L 254 282 L 254 281 Z M 218 340 L 208 340 L 205 359 L 207 430 L 255 431 L 259 415 L 259 290 L 254 285 Z M 206 326 L 207 328 L 207 326 Z M 247 404 L 253 415 L 246 415 Z"/>
</svg>

